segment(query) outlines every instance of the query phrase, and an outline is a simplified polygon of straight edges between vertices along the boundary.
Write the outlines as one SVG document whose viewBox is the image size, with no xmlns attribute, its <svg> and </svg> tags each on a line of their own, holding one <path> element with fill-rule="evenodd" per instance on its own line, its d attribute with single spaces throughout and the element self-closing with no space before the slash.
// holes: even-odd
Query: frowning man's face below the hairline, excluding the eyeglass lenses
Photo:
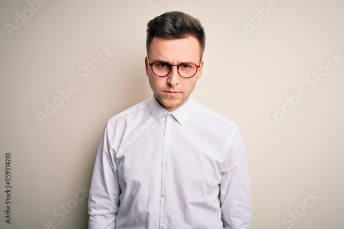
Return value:
<svg viewBox="0 0 344 229">
<path fill-rule="evenodd" d="M 197 80 L 202 75 L 203 61 L 200 63 L 200 43 L 193 36 L 184 39 L 161 39 L 155 37 L 150 46 L 149 60 L 146 57 L 146 74 L 155 99 L 167 111 L 173 111 L 182 106 L 195 88 Z M 151 63 L 164 61 L 173 65 L 180 63 L 195 63 L 200 65 L 192 78 L 182 78 L 177 67 L 172 67 L 169 75 L 158 77 L 153 74 Z"/>
</svg>

